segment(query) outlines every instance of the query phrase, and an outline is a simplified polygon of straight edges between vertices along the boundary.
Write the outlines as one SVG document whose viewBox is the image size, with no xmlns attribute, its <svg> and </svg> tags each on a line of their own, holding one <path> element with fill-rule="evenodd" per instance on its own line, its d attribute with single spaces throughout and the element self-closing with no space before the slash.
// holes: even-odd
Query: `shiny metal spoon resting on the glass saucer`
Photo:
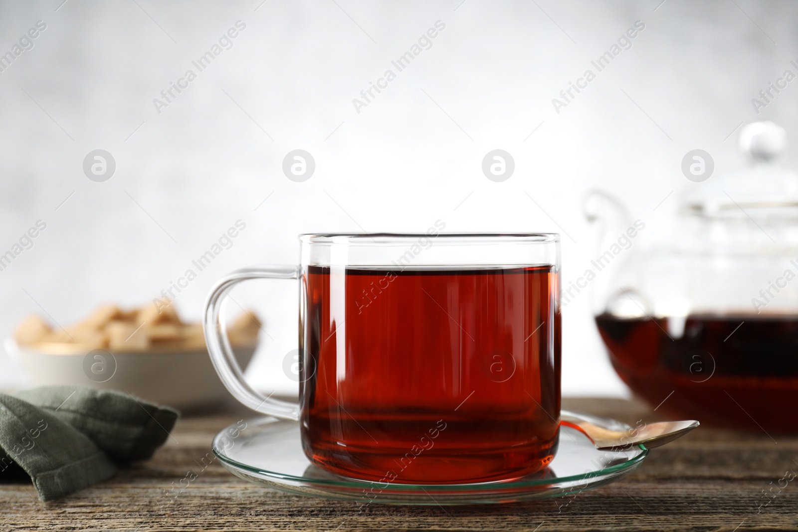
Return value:
<svg viewBox="0 0 798 532">
<path fill-rule="evenodd" d="M 611 421 L 587 414 L 577 414 L 563 410 L 560 424 L 583 432 L 599 451 L 628 451 L 643 444 L 646 449 L 659 447 L 692 431 L 697 421 L 662 421 L 632 428 L 618 421 Z"/>
</svg>

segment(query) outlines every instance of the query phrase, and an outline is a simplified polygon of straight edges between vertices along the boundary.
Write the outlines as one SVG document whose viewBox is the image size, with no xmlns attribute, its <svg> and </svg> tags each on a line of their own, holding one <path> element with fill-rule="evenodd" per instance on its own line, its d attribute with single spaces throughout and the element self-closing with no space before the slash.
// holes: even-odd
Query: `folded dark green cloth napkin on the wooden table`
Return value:
<svg viewBox="0 0 798 532">
<path fill-rule="evenodd" d="M 179 413 L 122 392 L 42 386 L 0 394 L 0 479 L 21 467 L 39 499 L 109 479 L 117 464 L 148 459 Z"/>
</svg>

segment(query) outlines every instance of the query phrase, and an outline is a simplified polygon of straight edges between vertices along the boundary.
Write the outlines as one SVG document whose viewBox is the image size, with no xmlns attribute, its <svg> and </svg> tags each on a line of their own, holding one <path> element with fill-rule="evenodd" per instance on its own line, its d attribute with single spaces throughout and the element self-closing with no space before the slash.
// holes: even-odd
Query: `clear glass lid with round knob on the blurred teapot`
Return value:
<svg viewBox="0 0 798 532">
<path fill-rule="evenodd" d="M 776 163 L 786 148 L 784 128 L 770 121 L 746 124 L 738 148 L 749 160 L 685 195 L 681 212 L 711 219 L 798 219 L 798 175 Z"/>
</svg>

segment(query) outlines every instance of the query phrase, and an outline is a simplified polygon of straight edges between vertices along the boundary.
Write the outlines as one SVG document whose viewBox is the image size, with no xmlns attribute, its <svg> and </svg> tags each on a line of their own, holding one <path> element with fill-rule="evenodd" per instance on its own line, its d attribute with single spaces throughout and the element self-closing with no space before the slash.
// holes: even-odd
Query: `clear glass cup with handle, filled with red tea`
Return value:
<svg viewBox="0 0 798 532">
<path fill-rule="evenodd" d="M 239 270 L 205 305 L 211 360 L 256 412 L 298 420 L 312 463 L 354 479 L 478 483 L 540 471 L 559 442 L 559 234 L 302 234 L 299 266 Z M 299 401 L 243 378 L 236 283 L 298 279 Z"/>
</svg>

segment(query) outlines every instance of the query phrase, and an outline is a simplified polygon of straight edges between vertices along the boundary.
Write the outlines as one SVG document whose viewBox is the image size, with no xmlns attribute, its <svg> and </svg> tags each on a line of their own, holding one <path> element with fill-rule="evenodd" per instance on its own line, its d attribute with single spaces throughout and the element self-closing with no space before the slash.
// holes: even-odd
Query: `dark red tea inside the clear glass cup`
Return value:
<svg viewBox="0 0 798 532">
<path fill-rule="evenodd" d="M 303 290 L 302 441 L 314 463 L 358 479 L 445 483 L 551 462 L 551 266 L 308 266 Z"/>
</svg>

